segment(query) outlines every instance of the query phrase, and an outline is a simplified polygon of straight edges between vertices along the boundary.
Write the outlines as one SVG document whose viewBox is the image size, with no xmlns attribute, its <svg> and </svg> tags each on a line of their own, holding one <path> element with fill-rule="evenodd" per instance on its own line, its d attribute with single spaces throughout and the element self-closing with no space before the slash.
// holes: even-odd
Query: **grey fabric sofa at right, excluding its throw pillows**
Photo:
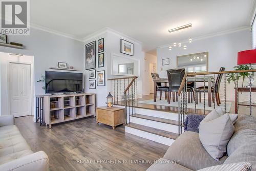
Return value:
<svg viewBox="0 0 256 171">
<path fill-rule="evenodd" d="M 163 158 L 147 171 L 191 171 L 244 161 L 251 163 L 251 170 L 256 171 L 256 118 L 241 115 L 234 127 L 234 134 L 227 145 L 227 154 L 219 161 L 211 158 L 205 151 L 198 133 L 184 132 L 170 145 Z"/>
</svg>

